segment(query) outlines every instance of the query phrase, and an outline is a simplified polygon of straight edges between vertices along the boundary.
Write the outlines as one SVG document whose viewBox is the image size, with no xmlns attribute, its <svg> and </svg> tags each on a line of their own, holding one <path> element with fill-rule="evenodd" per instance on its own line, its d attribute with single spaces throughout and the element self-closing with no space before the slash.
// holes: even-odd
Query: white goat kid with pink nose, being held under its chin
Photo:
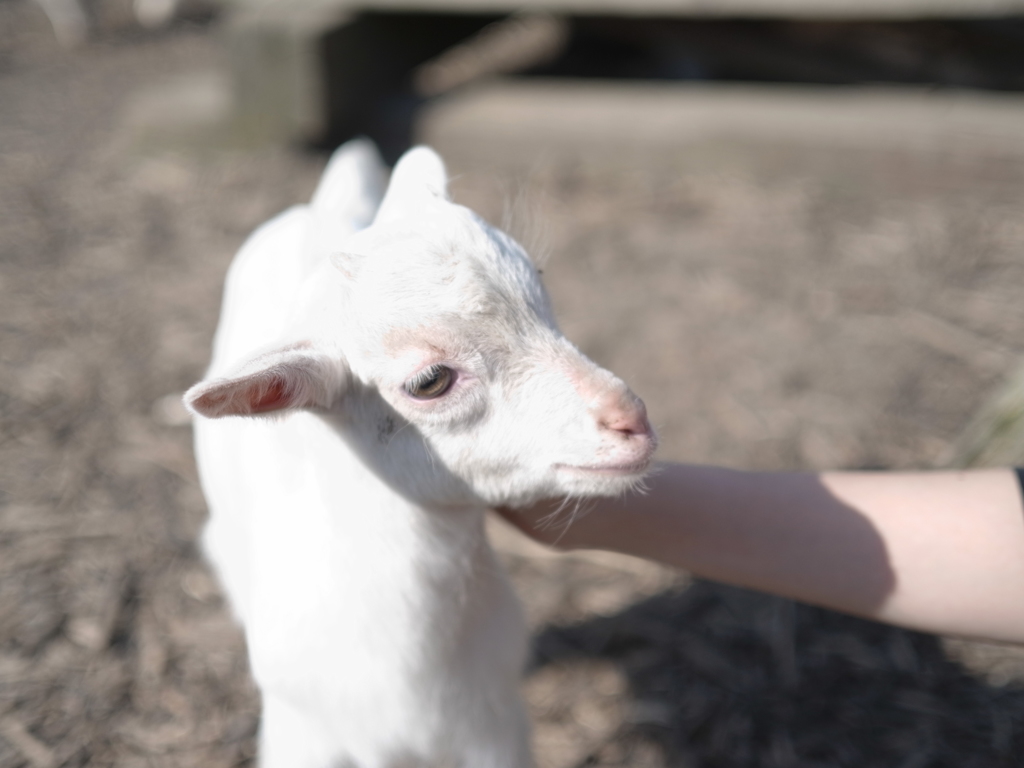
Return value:
<svg viewBox="0 0 1024 768">
<path fill-rule="evenodd" d="M 185 395 L 204 543 L 246 629 L 264 768 L 527 768 L 526 634 L 485 508 L 620 494 L 654 436 L 558 332 L 522 249 L 449 202 L 431 150 L 382 202 L 381 177 L 346 144 L 231 266 Z M 261 415 L 282 418 L 211 421 Z"/>
</svg>

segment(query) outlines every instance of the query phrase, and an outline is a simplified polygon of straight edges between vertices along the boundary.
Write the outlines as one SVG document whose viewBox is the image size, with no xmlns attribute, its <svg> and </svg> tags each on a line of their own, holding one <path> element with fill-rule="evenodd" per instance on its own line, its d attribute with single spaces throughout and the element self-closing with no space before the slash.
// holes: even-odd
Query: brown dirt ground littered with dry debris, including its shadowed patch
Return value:
<svg viewBox="0 0 1024 768">
<path fill-rule="evenodd" d="M 2 768 L 252 764 L 176 397 L 236 249 L 326 158 L 141 145 L 132 99 L 218 63 L 203 27 L 65 52 L 0 0 Z M 459 201 L 527 201 L 566 334 L 646 399 L 665 458 L 936 466 L 1024 352 L 1024 154 L 434 138 Z M 499 536 L 543 768 L 1024 765 L 1010 650 Z"/>
</svg>

